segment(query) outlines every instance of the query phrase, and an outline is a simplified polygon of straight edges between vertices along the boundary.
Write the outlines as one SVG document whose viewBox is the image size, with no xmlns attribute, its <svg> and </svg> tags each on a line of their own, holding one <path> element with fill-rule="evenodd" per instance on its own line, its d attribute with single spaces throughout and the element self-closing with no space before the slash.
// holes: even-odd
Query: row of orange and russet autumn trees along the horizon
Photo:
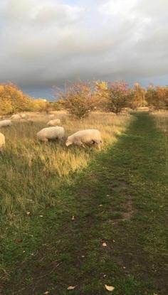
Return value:
<svg viewBox="0 0 168 295">
<path fill-rule="evenodd" d="M 118 114 L 125 107 L 137 109 L 168 109 L 168 87 L 149 85 L 147 89 L 139 83 L 130 88 L 124 81 L 76 82 L 64 92 L 57 92 L 56 102 L 42 98 L 33 99 L 12 83 L 0 85 L 0 114 L 23 111 L 50 112 L 68 109 L 75 117 L 86 117 L 90 111 L 100 109 Z"/>
</svg>

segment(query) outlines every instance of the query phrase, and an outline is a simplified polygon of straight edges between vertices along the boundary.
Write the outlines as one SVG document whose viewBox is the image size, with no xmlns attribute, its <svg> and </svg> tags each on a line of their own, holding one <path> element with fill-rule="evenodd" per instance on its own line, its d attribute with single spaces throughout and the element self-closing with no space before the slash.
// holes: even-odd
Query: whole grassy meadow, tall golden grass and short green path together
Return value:
<svg viewBox="0 0 168 295">
<path fill-rule="evenodd" d="M 1 294 L 167 295 L 167 114 L 56 117 L 104 145 L 38 142 L 47 114 L 3 129 Z"/>
</svg>

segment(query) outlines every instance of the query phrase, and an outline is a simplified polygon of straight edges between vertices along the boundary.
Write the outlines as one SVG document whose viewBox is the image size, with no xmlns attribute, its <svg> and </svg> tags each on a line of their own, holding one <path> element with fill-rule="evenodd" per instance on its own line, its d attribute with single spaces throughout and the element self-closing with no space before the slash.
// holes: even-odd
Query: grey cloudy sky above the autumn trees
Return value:
<svg viewBox="0 0 168 295">
<path fill-rule="evenodd" d="M 168 84 L 168 0 L 0 0 L 0 82 Z"/>
</svg>

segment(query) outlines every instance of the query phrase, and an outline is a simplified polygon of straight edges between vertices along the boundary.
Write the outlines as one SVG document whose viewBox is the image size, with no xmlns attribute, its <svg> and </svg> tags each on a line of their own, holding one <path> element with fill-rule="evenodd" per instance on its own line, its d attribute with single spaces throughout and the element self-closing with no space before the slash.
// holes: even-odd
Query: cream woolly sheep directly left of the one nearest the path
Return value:
<svg viewBox="0 0 168 295">
<path fill-rule="evenodd" d="M 63 127 L 47 127 L 41 129 L 41 131 L 37 133 L 37 139 L 40 141 L 61 140 L 64 134 L 65 131 Z"/>
</svg>

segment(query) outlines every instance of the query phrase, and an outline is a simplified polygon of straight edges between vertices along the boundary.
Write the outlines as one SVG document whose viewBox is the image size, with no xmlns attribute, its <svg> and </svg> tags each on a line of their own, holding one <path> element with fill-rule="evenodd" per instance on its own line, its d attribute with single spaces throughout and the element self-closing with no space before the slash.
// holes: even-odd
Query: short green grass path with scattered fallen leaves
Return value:
<svg viewBox="0 0 168 295">
<path fill-rule="evenodd" d="M 53 190 L 54 205 L 3 227 L 2 294 L 103 295 L 107 284 L 115 295 L 166 295 L 167 179 L 165 136 L 135 114 L 115 145 Z"/>
</svg>

